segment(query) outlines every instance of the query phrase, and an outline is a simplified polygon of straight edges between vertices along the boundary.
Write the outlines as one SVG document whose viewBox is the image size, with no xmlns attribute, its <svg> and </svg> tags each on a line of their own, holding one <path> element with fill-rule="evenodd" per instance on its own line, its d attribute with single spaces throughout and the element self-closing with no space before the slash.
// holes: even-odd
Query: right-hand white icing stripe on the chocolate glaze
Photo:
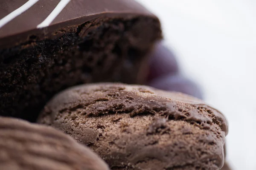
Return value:
<svg viewBox="0 0 256 170">
<path fill-rule="evenodd" d="M 61 2 L 58 3 L 58 5 L 54 8 L 54 10 L 49 14 L 49 16 L 40 23 L 37 28 L 43 28 L 47 27 L 52 23 L 52 21 L 58 16 L 58 14 L 62 11 L 62 9 L 67 6 L 67 4 L 70 2 L 70 0 L 61 0 Z"/>
</svg>

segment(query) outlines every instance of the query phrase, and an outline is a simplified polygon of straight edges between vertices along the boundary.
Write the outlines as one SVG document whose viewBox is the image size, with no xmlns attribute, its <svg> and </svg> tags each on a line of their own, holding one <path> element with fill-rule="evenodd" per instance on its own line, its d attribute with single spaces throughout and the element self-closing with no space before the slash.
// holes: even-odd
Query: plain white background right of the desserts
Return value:
<svg viewBox="0 0 256 170">
<path fill-rule="evenodd" d="M 229 121 L 227 160 L 256 170 L 256 0 L 138 0 L 205 100 Z"/>
</svg>

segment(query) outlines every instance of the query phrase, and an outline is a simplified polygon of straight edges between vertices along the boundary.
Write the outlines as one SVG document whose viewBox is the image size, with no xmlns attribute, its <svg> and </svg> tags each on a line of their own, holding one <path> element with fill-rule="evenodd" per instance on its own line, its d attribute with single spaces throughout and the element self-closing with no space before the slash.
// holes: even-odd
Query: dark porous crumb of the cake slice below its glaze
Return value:
<svg viewBox="0 0 256 170">
<path fill-rule="evenodd" d="M 161 38 L 156 17 L 98 17 L 52 39 L 0 49 L 0 115 L 35 121 L 55 93 L 88 82 L 143 83 L 147 54 Z M 47 38 L 47 37 L 46 37 Z"/>
</svg>

